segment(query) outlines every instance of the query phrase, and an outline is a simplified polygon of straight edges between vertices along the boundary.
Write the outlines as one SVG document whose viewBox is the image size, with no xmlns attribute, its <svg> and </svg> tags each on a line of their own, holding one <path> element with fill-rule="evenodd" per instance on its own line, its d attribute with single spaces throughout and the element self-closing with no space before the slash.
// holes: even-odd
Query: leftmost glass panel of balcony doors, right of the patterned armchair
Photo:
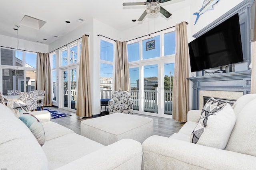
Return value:
<svg viewBox="0 0 256 170">
<path fill-rule="evenodd" d="M 130 68 L 131 96 L 134 102 L 133 110 L 139 110 L 140 107 L 140 69 L 139 67 Z"/>
</svg>

